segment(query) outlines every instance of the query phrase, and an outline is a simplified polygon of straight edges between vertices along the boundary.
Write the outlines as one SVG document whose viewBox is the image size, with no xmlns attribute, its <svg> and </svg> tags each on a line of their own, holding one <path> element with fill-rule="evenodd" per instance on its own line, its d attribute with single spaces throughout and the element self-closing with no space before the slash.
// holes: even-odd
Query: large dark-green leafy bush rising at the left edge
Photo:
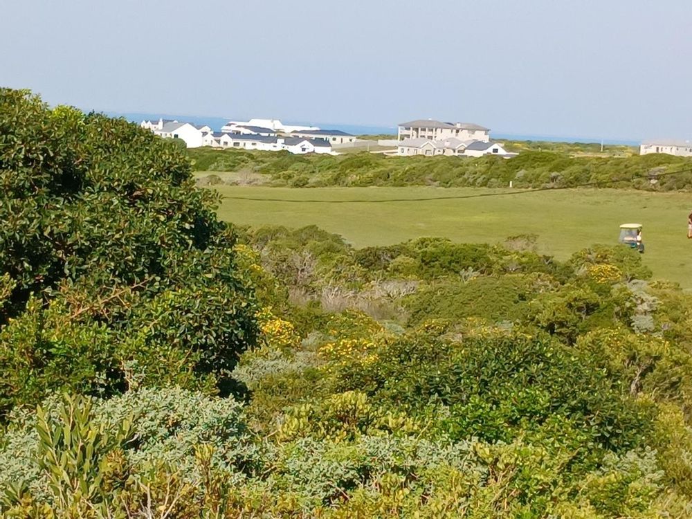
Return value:
<svg viewBox="0 0 692 519">
<path fill-rule="evenodd" d="M 224 387 L 253 293 L 179 147 L 0 89 L 0 183 L 0 414 L 55 389 Z"/>
</svg>

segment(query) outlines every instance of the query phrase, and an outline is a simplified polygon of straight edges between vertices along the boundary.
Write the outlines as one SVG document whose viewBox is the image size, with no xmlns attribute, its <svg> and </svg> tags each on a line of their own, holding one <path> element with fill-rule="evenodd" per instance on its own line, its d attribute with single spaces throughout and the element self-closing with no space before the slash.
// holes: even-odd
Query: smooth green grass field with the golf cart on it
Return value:
<svg viewBox="0 0 692 519">
<path fill-rule="evenodd" d="M 692 208 L 689 194 L 559 190 L 471 199 L 368 203 L 476 195 L 491 190 L 228 185 L 217 186 L 217 190 L 224 196 L 219 208 L 221 219 L 255 226 L 315 224 L 342 235 L 356 247 L 394 244 L 421 236 L 448 237 L 455 242 L 498 243 L 511 235 L 534 233 L 538 235 L 541 252 L 564 259 L 591 244 L 617 243 L 619 224 L 637 222 L 644 225 L 644 262 L 653 269 L 655 277 L 692 289 L 692 239 L 686 237 L 687 215 Z"/>
</svg>

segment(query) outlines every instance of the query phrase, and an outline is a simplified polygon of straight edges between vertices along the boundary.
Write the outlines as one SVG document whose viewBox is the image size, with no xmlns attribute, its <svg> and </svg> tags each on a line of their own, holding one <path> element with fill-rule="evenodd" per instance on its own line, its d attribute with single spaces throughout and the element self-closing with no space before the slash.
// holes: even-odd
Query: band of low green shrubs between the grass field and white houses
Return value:
<svg viewBox="0 0 692 519">
<path fill-rule="evenodd" d="M 263 175 L 270 185 L 293 187 L 436 185 L 502 188 L 570 187 L 584 183 L 612 188 L 670 191 L 692 189 L 692 160 L 650 154 L 628 157 L 572 156 L 560 152 L 522 152 L 504 159 L 388 157 L 359 153 L 301 156 L 210 148 L 188 151 L 192 168 L 210 172 L 208 181 L 223 181 L 215 172 Z M 680 171 L 679 174 L 657 174 Z M 617 181 L 617 182 L 614 182 Z"/>
</svg>

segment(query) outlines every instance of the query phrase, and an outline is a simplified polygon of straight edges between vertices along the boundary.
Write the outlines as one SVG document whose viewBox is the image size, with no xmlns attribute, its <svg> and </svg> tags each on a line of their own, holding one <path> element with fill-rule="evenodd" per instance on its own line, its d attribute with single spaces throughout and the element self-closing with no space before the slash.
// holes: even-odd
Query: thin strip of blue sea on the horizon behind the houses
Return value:
<svg viewBox="0 0 692 519">
<path fill-rule="evenodd" d="M 192 122 L 195 125 L 208 125 L 214 131 L 219 131 L 231 118 L 221 117 L 204 117 L 204 116 L 176 116 L 160 113 L 118 113 L 106 112 L 111 117 L 123 117 L 132 122 L 142 122 L 143 120 L 156 119 L 163 117 L 164 119 L 177 119 L 181 121 Z M 317 126 L 322 129 L 338 129 L 346 131 L 354 135 L 396 135 L 397 127 L 395 126 L 362 126 L 362 125 L 340 125 L 331 122 L 305 122 L 305 121 L 284 121 L 286 125 L 306 125 Z M 560 136 L 560 135 L 523 135 L 523 134 L 504 134 L 501 132 L 493 132 L 493 140 L 545 140 L 551 143 L 601 143 L 603 144 L 621 144 L 627 146 L 638 146 L 638 140 L 628 139 L 600 139 L 594 137 L 575 137 L 575 136 Z"/>
</svg>

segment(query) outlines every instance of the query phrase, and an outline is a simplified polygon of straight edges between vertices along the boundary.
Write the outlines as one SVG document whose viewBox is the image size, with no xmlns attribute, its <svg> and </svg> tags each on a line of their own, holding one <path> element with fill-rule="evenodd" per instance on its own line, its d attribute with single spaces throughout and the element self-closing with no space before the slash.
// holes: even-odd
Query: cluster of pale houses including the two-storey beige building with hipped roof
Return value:
<svg viewBox="0 0 692 519">
<path fill-rule="evenodd" d="M 473 122 L 443 122 L 418 119 L 402 122 L 397 134 L 397 154 L 450 155 L 480 157 L 495 155 L 509 158 L 500 143 L 490 140 L 490 129 Z"/>
</svg>

